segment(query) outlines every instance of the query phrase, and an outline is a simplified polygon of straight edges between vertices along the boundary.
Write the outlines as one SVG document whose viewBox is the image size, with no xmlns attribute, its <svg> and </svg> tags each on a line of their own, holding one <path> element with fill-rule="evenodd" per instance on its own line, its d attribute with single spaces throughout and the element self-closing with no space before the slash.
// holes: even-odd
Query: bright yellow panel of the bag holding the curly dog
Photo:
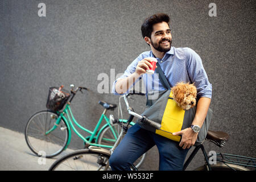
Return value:
<svg viewBox="0 0 256 182">
<path fill-rule="evenodd" d="M 172 97 L 172 92 L 170 93 L 170 97 Z M 164 114 L 162 118 L 162 123 L 160 128 L 161 130 L 156 130 L 155 133 L 179 142 L 180 136 L 174 136 L 165 131 L 168 131 L 171 133 L 180 131 L 183 125 L 184 115 L 185 115 L 185 110 L 181 109 L 174 100 L 168 99 L 166 109 L 164 110 Z"/>
</svg>

